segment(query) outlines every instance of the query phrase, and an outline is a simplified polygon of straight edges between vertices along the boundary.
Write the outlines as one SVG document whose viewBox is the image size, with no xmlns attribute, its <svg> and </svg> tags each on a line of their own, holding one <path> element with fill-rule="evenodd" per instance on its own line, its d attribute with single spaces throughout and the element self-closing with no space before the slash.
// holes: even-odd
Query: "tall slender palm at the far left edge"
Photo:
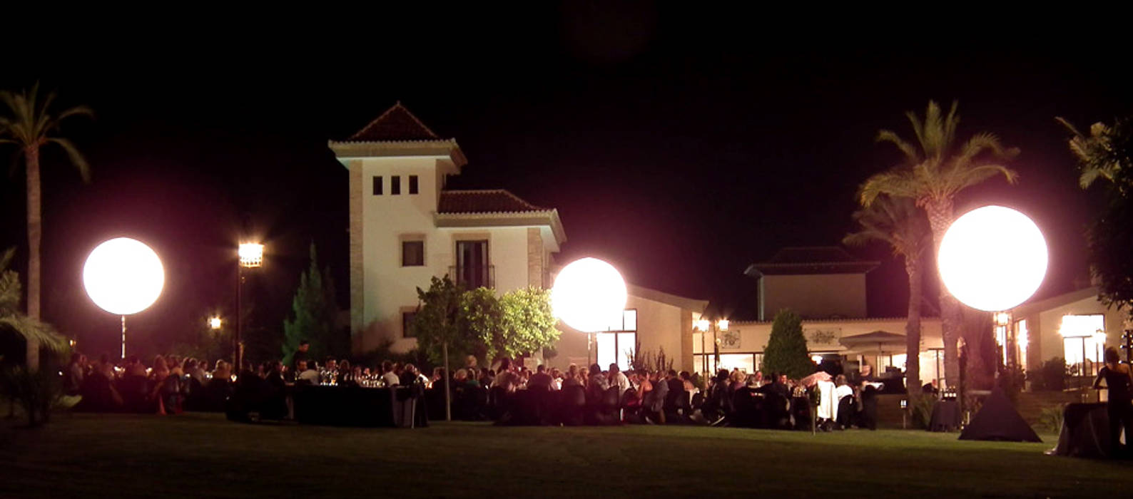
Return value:
<svg viewBox="0 0 1133 499">
<path fill-rule="evenodd" d="M 48 93 L 39 98 L 40 85 L 31 91 L 18 94 L 0 92 L 0 102 L 8 107 L 7 115 L 0 115 L 0 143 L 15 144 L 24 156 L 27 172 L 27 316 L 34 320 L 40 315 L 40 240 L 43 235 L 43 216 L 41 213 L 42 192 L 40 190 L 40 147 L 54 144 L 67 153 L 70 162 L 78 169 L 83 181 L 91 180 L 91 167 L 70 140 L 59 137 L 59 126 L 68 117 L 93 115 L 90 107 L 79 105 L 51 114 L 51 104 L 56 94 Z M 39 342 L 27 338 L 27 365 L 35 369 L 39 365 Z"/>
</svg>

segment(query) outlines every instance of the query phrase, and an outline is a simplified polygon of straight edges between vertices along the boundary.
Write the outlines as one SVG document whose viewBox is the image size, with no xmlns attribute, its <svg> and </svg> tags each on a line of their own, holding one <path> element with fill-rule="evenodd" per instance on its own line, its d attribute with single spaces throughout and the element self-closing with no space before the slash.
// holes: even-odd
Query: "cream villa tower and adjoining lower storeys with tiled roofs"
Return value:
<svg viewBox="0 0 1133 499">
<path fill-rule="evenodd" d="M 349 171 L 353 351 L 416 346 L 417 287 L 445 274 L 497 291 L 550 286 L 559 212 L 503 190 L 446 190 L 467 160 L 400 102 L 329 147 Z"/>
</svg>

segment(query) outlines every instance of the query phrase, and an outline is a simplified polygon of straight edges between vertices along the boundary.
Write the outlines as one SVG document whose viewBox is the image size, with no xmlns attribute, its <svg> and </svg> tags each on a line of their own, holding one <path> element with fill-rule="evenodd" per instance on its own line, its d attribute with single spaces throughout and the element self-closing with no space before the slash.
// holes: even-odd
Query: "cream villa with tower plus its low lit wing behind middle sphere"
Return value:
<svg viewBox="0 0 1133 499">
<path fill-rule="evenodd" d="M 350 138 L 330 141 L 349 171 L 350 329 L 352 350 L 391 343 L 417 346 L 408 324 L 417 287 L 451 276 L 466 287 L 497 293 L 551 287 L 554 255 L 566 241 L 559 212 L 503 189 L 450 190 L 446 180 L 467 163 L 455 139 L 434 134 L 400 103 Z M 707 302 L 629 286 L 621 324 L 581 333 L 560 324 L 555 355 L 530 362 L 566 368 L 598 362 L 628 367 L 630 350 L 664 352 L 691 369 L 692 320 Z"/>
</svg>

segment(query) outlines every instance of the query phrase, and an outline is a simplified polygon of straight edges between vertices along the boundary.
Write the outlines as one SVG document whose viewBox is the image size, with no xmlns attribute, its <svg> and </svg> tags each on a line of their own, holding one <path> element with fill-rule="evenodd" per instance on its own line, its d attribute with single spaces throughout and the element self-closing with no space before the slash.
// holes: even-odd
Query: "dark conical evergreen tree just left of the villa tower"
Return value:
<svg viewBox="0 0 1133 499">
<path fill-rule="evenodd" d="M 299 275 L 299 287 L 291 300 L 292 319 L 283 320 L 283 363 L 289 364 L 299 342 L 310 342 L 309 355 L 321 359 L 329 353 L 332 336 L 338 333 L 335 319 L 338 304 L 330 267 L 318 270 L 315 243 L 310 243 L 310 267 Z"/>
</svg>

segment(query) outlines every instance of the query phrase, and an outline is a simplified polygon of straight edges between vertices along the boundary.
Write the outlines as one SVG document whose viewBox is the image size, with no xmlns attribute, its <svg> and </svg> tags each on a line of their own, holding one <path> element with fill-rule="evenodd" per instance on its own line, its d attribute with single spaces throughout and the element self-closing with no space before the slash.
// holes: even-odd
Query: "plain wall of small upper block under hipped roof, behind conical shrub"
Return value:
<svg viewBox="0 0 1133 499">
<path fill-rule="evenodd" d="M 866 317 L 866 274 L 765 275 L 760 315 L 770 320 L 789 308 L 804 318 Z"/>
</svg>

